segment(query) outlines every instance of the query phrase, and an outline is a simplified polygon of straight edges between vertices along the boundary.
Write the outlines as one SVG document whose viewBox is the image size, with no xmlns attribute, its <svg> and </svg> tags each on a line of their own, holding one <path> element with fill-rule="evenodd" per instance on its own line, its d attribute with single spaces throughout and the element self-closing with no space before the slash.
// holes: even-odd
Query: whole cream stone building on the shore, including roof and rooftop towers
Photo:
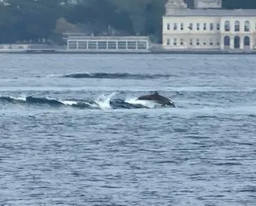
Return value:
<svg viewBox="0 0 256 206">
<path fill-rule="evenodd" d="M 169 0 L 163 16 L 166 50 L 256 50 L 256 10 L 224 10 L 221 0 Z"/>
</svg>

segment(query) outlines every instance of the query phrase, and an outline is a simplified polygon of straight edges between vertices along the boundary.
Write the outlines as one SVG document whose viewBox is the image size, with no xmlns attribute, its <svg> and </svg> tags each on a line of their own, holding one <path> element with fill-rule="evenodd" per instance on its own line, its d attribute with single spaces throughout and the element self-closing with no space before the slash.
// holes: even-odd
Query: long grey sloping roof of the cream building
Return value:
<svg viewBox="0 0 256 206">
<path fill-rule="evenodd" d="M 167 14 L 166 16 L 255 16 L 256 9 L 183 9 Z"/>
</svg>

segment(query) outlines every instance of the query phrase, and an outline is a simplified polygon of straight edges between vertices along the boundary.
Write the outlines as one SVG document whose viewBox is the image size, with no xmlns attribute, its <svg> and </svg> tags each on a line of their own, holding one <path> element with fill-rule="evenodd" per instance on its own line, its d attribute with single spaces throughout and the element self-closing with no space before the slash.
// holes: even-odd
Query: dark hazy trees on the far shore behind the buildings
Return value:
<svg viewBox="0 0 256 206">
<path fill-rule="evenodd" d="M 139 1 L 119 0 L 117 5 L 114 0 L 80 0 L 70 5 L 63 4 L 68 0 L 8 0 L 9 6 L 0 3 L 0 43 L 51 38 L 60 17 L 71 24 L 90 24 L 96 34 L 111 26 L 127 35 L 151 35 L 160 41 L 166 0 Z M 186 2 L 192 5 L 192 0 Z M 256 8 L 256 1 L 223 0 L 223 7 Z"/>
</svg>

